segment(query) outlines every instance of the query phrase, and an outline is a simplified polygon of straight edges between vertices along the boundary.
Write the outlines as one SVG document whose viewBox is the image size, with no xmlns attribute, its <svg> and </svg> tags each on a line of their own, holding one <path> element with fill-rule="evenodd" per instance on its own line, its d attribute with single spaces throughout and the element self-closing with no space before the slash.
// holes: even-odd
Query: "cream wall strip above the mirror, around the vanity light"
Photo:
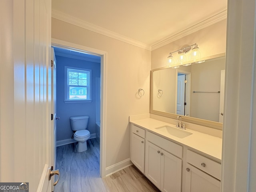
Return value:
<svg viewBox="0 0 256 192">
<path fill-rule="evenodd" d="M 202 58 L 226 52 L 226 20 L 222 20 L 153 50 L 151 53 L 151 69 L 166 66 L 167 57 L 170 52 L 179 50 L 184 46 L 190 46 L 194 43 L 198 44 Z"/>
</svg>

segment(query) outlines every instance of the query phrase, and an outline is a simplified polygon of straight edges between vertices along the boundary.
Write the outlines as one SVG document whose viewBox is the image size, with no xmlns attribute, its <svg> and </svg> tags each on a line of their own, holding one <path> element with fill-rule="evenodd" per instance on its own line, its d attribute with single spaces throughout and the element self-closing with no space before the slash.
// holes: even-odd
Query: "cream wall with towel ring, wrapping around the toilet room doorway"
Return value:
<svg viewBox="0 0 256 192">
<path fill-rule="evenodd" d="M 106 167 L 130 158 L 129 115 L 149 112 L 150 51 L 54 18 L 52 38 L 107 52 Z"/>
</svg>

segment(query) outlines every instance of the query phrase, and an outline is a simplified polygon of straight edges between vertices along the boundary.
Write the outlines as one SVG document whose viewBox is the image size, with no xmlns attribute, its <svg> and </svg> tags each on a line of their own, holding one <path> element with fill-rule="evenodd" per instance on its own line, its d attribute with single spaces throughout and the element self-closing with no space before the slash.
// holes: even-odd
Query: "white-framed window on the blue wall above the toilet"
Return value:
<svg viewBox="0 0 256 192">
<path fill-rule="evenodd" d="M 65 102 L 91 102 L 91 72 L 65 66 Z"/>
</svg>

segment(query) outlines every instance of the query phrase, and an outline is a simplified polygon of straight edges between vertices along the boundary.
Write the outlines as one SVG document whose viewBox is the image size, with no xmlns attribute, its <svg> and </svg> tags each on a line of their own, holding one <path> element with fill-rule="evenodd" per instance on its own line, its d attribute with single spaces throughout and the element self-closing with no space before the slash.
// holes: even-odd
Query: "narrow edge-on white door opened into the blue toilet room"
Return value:
<svg viewBox="0 0 256 192">
<path fill-rule="evenodd" d="M 56 116 L 56 57 L 54 53 L 54 48 L 51 48 L 51 87 L 52 87 L 52 114 L 51 114 L 51 120 L 52 120 L 52 166 L 55 170 L 55 162 L 56 162 L 56 120 L 59 119 L 59 117 Z M 54 191 L 54 178 L 52 179 L 52 191 Z"/>
</svg>

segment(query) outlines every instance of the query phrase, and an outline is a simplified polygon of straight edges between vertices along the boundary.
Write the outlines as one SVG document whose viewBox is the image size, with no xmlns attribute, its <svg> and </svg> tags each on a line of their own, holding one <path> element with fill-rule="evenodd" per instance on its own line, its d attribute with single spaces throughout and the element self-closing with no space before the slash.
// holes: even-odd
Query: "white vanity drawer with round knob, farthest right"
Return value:
<svg viewBox="0 0 256 192">
<path fill-rule="evenodd" d="M 220 163 L 190 150 L 187 150 L 187 162 L 220 180 Z"/>
</svg>

